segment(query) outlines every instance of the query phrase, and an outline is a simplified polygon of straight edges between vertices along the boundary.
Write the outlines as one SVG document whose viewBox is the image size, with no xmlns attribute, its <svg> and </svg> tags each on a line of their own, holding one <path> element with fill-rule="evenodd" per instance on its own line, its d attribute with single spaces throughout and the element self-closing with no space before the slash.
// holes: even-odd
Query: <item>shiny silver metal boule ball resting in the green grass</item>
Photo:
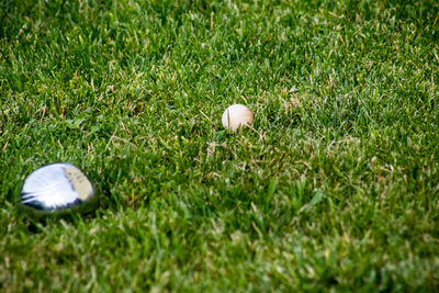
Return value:
<svg viewBox="0 0 439 293">
<path fill-rule="evenodd" d="M 95 191 L 89 178 L 66 162 L 36 169 L 25 179 L 20 195 L 21 206 L 37 214 L 87 212 L 94 200 Z"/>
</svg>

